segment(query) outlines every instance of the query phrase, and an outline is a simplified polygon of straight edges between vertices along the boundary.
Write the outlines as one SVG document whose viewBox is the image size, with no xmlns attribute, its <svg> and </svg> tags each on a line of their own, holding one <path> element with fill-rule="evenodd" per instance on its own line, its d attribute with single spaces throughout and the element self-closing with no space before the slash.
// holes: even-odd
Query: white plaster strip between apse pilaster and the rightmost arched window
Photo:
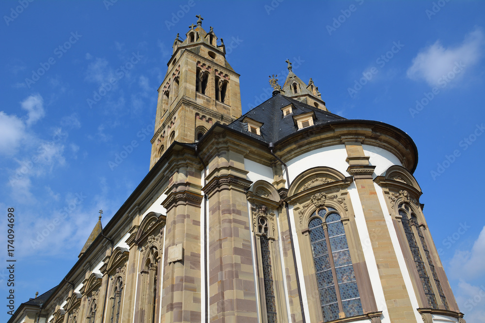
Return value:
<svg viewBox="0 0 485 323">
<path fill-rule="evenodd" d="M 416 320 L 420 322 L 421 315 L 416 310 L 416 308 L 419 308 L 418 298 L 416 297 L 416 293 L 414 292 L 414 289 L 413 289 L 411 276 L 409 274 L 409 271 L 407 270 L 406 261 L 404 260 L 404 255 L 401 250 L 401 246 L 399 245 L 396 229 L 394 228 L 394 224 L 392 223 L 392 217 L 391 215 L 389 215 L 388 207 L 386 205 L 386 199 L 384 197 L 384 192 L 382 191 L 382 188 L 376 183 L 374 183 L 374 188 L 375 188 L 375 191 L 377 192 L 377 198 L 379 199 L 379 204 L 381 205 L 382 213 L 384 214 L 384 219 L 386 220 L 386 225 L 389 231 L 389 236 L 391 238 L 392 246 L 394 248 L 394 252 L 396 253 L 397 261 L 399 263 L 399 268 L 401 268 L 401 274 L 403 275 L 404 285 L 406 286 L 409 299 L 411 300 L 411 306 L 414 309 L 414 315 L 416 316 Z"/>
</svg>

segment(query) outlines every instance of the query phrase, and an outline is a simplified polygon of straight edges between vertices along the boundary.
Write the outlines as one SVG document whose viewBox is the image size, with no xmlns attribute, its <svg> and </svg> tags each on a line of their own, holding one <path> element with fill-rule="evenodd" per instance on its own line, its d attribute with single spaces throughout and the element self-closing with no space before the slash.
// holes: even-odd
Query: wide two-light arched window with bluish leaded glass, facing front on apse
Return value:
<svg viewBox="0 0 485 323">
<path fill-rule="evenodd" d="M 363 314 L 354 266 L 340 215 L 321 208 L 308 223 L 323 321 Z"/>
</svg>

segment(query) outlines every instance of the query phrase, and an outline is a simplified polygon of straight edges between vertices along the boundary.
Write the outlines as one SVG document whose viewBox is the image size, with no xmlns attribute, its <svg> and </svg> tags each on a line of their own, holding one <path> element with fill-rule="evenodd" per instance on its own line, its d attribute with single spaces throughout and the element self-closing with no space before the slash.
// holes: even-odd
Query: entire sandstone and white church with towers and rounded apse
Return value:
<svg viewBox="0 0 485 323">
<path fill-rule="evenodd" d="M 329 112 L 288 60 L 242 115 L 224 40 L 197 18 L 158 89 L 146 177 L 9 323 L 465 323 L 413 140 Z"/>
</svg>

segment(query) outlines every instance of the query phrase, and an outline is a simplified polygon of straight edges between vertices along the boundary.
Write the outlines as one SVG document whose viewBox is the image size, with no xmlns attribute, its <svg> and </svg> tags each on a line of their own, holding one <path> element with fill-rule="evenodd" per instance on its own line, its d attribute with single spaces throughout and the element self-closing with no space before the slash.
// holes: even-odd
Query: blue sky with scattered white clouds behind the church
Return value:
<svg viewBox="0 0 485 323">
<path fill-rule="evenodd" d="M 0 223 L 6 233 L 15 208 L 16 306 L 63 279 L 98 210 L 106 224 L 146 175 L 172 43 L 200 14 L 241 74 L 243 113 L 290 59 L 331 112 L 414 139 L 453 292 L 467 322 L 485 322 L 485 2 L 20 0 L 0 13 Z"/>
</svg>

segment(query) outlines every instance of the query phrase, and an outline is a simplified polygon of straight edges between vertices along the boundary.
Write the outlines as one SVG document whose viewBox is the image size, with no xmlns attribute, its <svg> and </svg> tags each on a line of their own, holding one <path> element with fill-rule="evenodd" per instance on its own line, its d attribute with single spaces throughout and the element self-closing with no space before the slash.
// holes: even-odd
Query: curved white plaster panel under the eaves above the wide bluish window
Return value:
<svg viewBox="0 0 485 323">
<path fill-rule="evenodd" d="M 345 145 L 318 148 L 311 152 L 301 154 L 286 163 L 290 175 L 290 182 L 293 182 L 295 177 L 301 172 L 318 166 L 331 167 L 337 169 L 345 176 L 350 176 L 350 174 L 347 173 L 349 164 L 345 161 L 346 158 L 347 151 L 345 150 Z M 286 178 L 284 169 L 283 176 Z"/>
</svg>

